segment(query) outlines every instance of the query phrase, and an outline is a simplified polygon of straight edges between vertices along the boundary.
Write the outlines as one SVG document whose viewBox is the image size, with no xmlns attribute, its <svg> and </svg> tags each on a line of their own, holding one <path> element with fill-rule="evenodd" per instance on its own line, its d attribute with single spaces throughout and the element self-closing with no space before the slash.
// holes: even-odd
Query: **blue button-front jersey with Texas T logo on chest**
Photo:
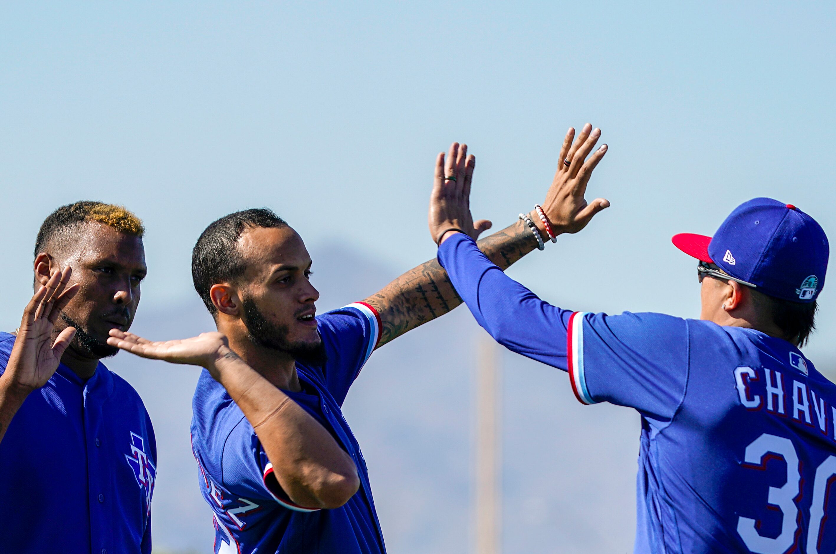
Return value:
<svg viewBox="0 0 836 554">
<path fill-rule="evenodd" d="M 14 336 L 0 333 L 0 372 Z M 0 552 L 150 554 L 156 442 L 133 387 L 59 365 L 0 443 Z"/>
</svg>

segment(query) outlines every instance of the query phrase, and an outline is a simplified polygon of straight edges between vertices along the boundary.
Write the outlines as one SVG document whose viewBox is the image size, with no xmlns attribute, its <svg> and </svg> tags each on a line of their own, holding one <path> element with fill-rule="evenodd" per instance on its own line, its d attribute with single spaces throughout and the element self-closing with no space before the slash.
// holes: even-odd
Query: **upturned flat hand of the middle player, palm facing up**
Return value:
<svg viewBox="0 0 836 554">
<path fill-rule="evenodd" d="M 107 340 L 110 346 L 116 346 L 137 356 L 162 360 L 163 362 L 182 363 L 191 366 L 206 367 L 217 379 L 216 362 L 222 357 L 236 357 L 229 348 L 227 336 L 217 331 L 201 333 L 191 339 L 175 341 L 149 341 L 133 333 L 111 329 Z"/>
</svg>

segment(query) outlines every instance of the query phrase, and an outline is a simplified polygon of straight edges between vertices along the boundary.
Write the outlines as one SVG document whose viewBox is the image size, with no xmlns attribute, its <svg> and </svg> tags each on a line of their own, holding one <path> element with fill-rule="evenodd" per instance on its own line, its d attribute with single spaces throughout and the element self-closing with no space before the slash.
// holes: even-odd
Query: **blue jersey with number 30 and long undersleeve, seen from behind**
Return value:
<svg viewBox="0 0 836 554">
<path fill-rule="evenodd" d="M 641 415 L 636 552 L 836 550 L 836 385 L 788 341 L 662 314 L 562 310 L 456 234 L 439 261 L 512 351 L 584 404 Z"/>
</svg>

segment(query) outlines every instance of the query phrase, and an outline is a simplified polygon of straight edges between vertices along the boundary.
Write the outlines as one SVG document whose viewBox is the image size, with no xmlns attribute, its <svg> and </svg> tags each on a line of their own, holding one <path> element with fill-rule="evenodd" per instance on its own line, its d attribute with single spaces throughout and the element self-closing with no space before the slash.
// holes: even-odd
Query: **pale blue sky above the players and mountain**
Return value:
<svg viewBox="0 0 836 554">
<path fill-rule="evenodd" d="M 695 264 L 672 234 L 711 233 L 738 203 L 772 196 L 836 236 L 834 12 L 2 3 L 0 323 L 17 325 L 35 233 L 60 204 L 101 199 L 144 218 L 141 309 L 162 309 L 194 294 L 197 235 L 239 208 L 269 206 L 308 244 L 390 267 L 431 258 L 432 164 L 453 140 L 477 155 L 474 214 L 512 223 L 585 121 L 610 146 L 590 195 L 612 208 L 512 275 L 566 307 L 696 316 Z M 829 372 L 836 285 L 820 303 L 808 354 Z"/>
</svg>

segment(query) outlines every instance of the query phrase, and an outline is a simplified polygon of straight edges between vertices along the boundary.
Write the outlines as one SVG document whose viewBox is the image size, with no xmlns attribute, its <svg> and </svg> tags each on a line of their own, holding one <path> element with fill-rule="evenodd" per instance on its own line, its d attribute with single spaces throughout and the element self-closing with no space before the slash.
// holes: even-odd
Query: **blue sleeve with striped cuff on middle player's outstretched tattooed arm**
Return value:
<svg viewBox="0 0 836 554">
<path fill-rule="evenodd" d="M 327 361 L 325 385 L 343 405 L 345 395 L 380 341 L 380 315 L 364 302 L 355 302 L 317 317 Z"/>
</svg>

